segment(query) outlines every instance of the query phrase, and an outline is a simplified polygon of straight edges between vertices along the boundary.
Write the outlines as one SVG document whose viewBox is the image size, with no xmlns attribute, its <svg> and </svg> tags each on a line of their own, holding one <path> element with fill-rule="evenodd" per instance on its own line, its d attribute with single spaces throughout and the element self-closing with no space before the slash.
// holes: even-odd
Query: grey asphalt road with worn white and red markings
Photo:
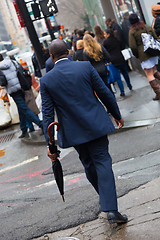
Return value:
<svg viewBox="0 0 160 240">
<path fill-rule="evenodd" d="M 160 175 L 160 124 L 109 136 L 118 196 Z M 98 196 L 74 149 L 62 151 L 63 203 L 46 147 L 18 138 L 0 146 L 0 240 L 29 240 L 97 217 Z"/>
</svg>

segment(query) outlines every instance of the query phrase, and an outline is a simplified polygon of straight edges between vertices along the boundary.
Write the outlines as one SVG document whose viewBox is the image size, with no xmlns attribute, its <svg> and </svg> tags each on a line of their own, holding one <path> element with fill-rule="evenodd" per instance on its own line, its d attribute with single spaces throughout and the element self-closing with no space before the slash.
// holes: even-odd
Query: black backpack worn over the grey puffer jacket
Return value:
<svg viewBox="0 0 160 240">
<path fill-rule="evenodd" d="M 16 68 L 17 77 L 18 77 L 19 83 L 21 85 L 21 88 L 24 91 L 29 90 L 32 86 L 32 78 L 29 74 L 29 71 L 24 69 L 21 65 L 19 65 L 19 67 L 17 67 L 17 65 L 14 61 L 12 61 L 12 63 L 14 64 L 14 66 Z"/>
</svg>

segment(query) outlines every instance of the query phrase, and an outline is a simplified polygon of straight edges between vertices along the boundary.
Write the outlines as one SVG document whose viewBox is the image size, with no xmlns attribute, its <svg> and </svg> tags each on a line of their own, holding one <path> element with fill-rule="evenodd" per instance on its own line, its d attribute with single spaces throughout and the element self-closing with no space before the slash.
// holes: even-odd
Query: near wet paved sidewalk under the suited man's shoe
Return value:
<svg viewBox="0 0 160 240">
<path fill-rule="evenodd" d="M 120 211 L 126 213 L 129 219 L 129 222 L 125 225 L 110 226 L 106 220 L 106 214 L 101 213 L 99 218 L 94 221 L 64 231 L 46 234 L 43 237 L 36 239 L 159 240 L 159 186 L 160 178 L 147 183 L 118 199 Z"/>
</svg>

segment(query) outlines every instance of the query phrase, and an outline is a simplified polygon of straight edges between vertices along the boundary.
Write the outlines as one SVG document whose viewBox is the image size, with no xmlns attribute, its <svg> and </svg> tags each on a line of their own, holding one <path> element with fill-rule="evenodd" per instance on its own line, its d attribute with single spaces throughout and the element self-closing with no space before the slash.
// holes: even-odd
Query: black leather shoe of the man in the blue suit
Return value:
<svg viewBox="0 0 160 240">
<path fill-rule="evenodd" d="M 128 222 L 127 216 L 120 214 L 118 211 L 109 211 L 107 218 L 109 223 L 123 224 Z"/>
</svg>

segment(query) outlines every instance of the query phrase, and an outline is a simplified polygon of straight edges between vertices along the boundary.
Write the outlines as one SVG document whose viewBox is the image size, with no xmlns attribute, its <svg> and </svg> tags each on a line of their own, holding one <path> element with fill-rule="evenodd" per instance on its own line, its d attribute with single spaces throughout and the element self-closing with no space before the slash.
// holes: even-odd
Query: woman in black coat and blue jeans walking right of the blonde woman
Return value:
<svg viewBox="0 0 160 240">
<path fill-rule="evenodd" d="M 106 30 L 105 31 L 105 40 L 103 42 L 103 46 L 105 47 L 105 49 L 109 52 L 110 56 L 111 56 L 111 62 L 112 64 L 118 68 L 120 70 L 120 72 L 122 73 L 127 87 L 132 90 L 132 85 L 130 82 L 130 78 L 128 75 L 128 67 L 127 64 L 125 62 L 125 59 L 121 53 L 121 44 L 120 42 L 114 37 L 113 31 L 112 30 Z M 124 92 L 124 86 L 122 83 L 122 80 L 119 79 L 117 80 L 117 84 L 119 86 L 119 89 L 121 91 L 121 96 L 125 96 L 125 92 Z"/>
</svg>

